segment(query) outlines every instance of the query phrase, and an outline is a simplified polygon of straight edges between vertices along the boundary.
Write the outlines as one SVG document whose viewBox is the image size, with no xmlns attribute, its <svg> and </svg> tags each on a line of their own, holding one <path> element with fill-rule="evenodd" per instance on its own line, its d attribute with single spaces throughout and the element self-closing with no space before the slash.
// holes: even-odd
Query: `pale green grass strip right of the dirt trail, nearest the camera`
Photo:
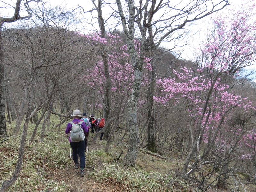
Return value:
<svg viewBox="0 0 256 192">
<path fill-rule="evenodd" d="M 106 165 L 102 170 L 91 172 L 89 177 L 97 181 L 116 180 L 124 184 L 130 191 L 188 191 L 189 186 L 174 179 L 169 174 L 146 172 L 138 169 L 128 169 L 115 163 Z M 194 190 L 196 191 L 196 190 Z"/>
</svg>

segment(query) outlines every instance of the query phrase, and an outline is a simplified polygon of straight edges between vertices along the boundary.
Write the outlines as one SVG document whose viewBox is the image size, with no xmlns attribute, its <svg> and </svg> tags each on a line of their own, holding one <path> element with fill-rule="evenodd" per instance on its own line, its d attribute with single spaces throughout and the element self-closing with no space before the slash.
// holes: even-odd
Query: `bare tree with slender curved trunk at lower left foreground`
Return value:
<svg viewBox="0 0 256 192">
<path fill-rule="evenodd" d="M 56 10 L 56 12 L 58 11 Z M 46 10 L 44 13 L 46 13 Z M 74 12 L 69 11 L 69 16 L 70 15 L 74 15 Z M 76 69 L 74 68 L 74 65 L 79 65 L 84 61 L 82 57 L 84 56 L 84 53 L 79 51 L 82 48 L 80 47 L 80 45 L 77 46 L 77 44 L 79 44 L 79 41 L 77 41 L 76 38 L 73 38 L 75 37 L 74 32 L 68 31 L 65 28 L 61 28 L 57 24 L 56 18 L 54 20 L 54 18 L 48 17 L 49 15 L 47 14 L 45 14 L 44 16 L 46 20 L 49 19 L 47 20 L 48 23 L 44 22 L 44 28 L 42 26 L 39 26 L 38 20 L 29 20 L 32 21 L 31 23 L 34 22 L 35 25 L 38 24 L 38 26 L 31 28 L 30 25 L 24 30 L 17 29 L 13 32 L 19 35 L 20 40 L 20 42 L 18 42 L 19 46 L 17 46 L 19 49 L 16 52 L 15 56 L 19 57 L 20 60 L 23 60 L 25 62 L 21 63 L 20 60 L 17 60 L 17 58 L 15 58 L 15 56 L 11 57 L 9 55 L 10 57 L 8 58 L 8 60 L 13 60 L 15 62 L 7 62 L 6 65 L 8 66 L 8 64 L 10 63 L 12 68 L 15 68 L 17 71 L 23 73 L 23 89 L 24 93 L 27 94 L 25 97 L 25 102 L 27 102 L 28 108 L 26 108 L 25 111 L 26 119 L 20 142 L 18 162 L 14 175 L 10 180 L 3 182 L 0 191 L 6 191 L 15 182 L 15 180 L 17 180 L 19 176 L 29 120 L 37 113 L 37 111 L 43 105 L 44 111 L 47 111 L 52 103 L 58 99 L 58 90 L 62 89 L 63 91 L 63 88 L 65 88 L 66 91 L 70 91 L 71 88 L 68 87 L 68 85 L 73 80 L 76 80 L 76 76 L 72 75 L 69 79 L 67 79 L 66 77 L 69 73 L 76 74 Z M 61 12 L 57 18 L 67 19 L 67 16 L 68 15 L 65 14 L 65 12 Z M 54 21 L 57 26 L 51 26 Z M 61 46 L 59 46 L 60 42 L 62 42 Z M 13 51 L 15 49 L 11 50 Z M 80 54 L 74 54 L 74 52 Z M 78 55 L 80 55 L 80 58 Z M 62 68 L 60 68 L 60 65 Z M 82 71 L 83 67 L 81 67 L 80 69 Z M 81 73 L 77 73 L 77 75 L 81 75 Z M 60 80 L 61 78 L 63 81 Z M 58 80 L 60 81 L 58 82 Z M 75 81 L 75 83 L 78 84 L 80 82 Z M 79 89 L 79 87 L 74 87 L 73 89 L 75 92 L 75 90 Z M 80 87 L 79 90 L 84 89 Z M 40 100 L 44 100 L 45 103 L 40 100 L 36 100 L 37 94 L 40 95 Z M 74 94 L 77 95 L 77 92 Z M 46 99 L 44 99 L 44 97 Z M 37 107 L 33 110 L 36 104 Z M 34 131 L 36 132 L 36 129 Z M 44 129 L 42 130 L 42 135 L 44 136 Z"/>
</svg>

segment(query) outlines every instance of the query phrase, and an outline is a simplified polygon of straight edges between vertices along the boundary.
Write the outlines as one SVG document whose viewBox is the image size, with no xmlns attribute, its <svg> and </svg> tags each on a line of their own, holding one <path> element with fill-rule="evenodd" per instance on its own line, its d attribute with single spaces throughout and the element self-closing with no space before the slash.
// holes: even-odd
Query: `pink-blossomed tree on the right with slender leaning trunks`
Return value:
<svg viewBox="0 0 256 192">
<path fill-rule="evenodd" d="M 253 8 L 254 5 L 250 7 Z M 173 77 L 157 81 L 160 94 L 155 97 L 156 102 L 168 104 L 174 99 L 174 104 L 183 103 L 187 107 L 192 141 L 183 166 L 183 175 L 189 175 L 202 166 L 204 162 L 201 160 L 209 155 L 211 147 L 216 146 L 217 143 L 220 145 L 225 140 L 224 135 L 221 135 L 223 132 L 239 135 L 234 137 L 236 145 L 231 150 L 234 152 L 238 140 L 241 140 L 245 134 L 242 128 L 235 130 L 231 128 L 233 131 L 228 131 L 228 119 L 236 109 L 240 108 L 247 115 L 249 114 L 248 119 L 254 115 L 255 109 L 251 102 L 232 92 L 232 84 L 224 81 L 225 79 L 238 81 L 239 71 L 253 65 L 256 59 L 256 23 L 251 20 L 253 15 L 252 10 L 243 10 L 236 12 L 232 18 L 212 18 L 216 28 L 201 50 L 202 60 L 196 62 L 198 69 L 184 67 L 180 71 L 174 71 Z M 224 131 L 225 129 L 227 130 Z M 199 147 L 202 141 L 208 143 L 203 154 L 200 153 Z M 226 148 L 230 146 L 227 145 Z M 190 166 L 192 171 L 187 172 L 192 159 L 195 161 Z"/>
</svg>

